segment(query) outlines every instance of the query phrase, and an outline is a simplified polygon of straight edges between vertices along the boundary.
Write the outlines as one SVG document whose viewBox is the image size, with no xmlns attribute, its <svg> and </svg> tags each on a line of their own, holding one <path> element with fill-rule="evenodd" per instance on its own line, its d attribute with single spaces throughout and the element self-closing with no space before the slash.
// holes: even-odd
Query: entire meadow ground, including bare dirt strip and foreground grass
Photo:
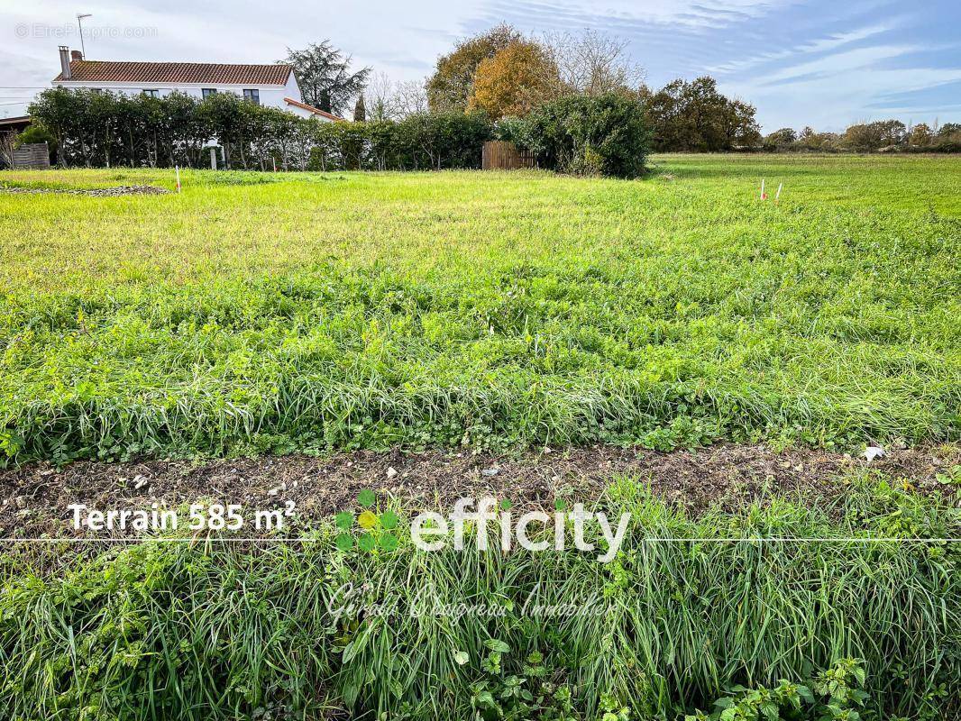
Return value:
<svg viewBox="0 0 961 721">
<path fill-rule="evenodd" d="M 961 162 L 651 166 L 0 174 L 0 718 L 961 718 Z"/>
</svg>

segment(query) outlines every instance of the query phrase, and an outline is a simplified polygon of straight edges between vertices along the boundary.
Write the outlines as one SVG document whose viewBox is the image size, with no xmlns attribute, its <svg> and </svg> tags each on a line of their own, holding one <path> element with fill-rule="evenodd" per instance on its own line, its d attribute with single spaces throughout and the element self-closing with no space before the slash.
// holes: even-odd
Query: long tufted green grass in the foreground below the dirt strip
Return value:
<svg viewBox="0 0 961 721">
<path fill-rule="evenodd" d="M 956 537 L 956 493 L 854 488 L 833 507 L 772 497 L 692 518 L 615 480 L 602 507 L 633 518 L 606 565 L 570 544 L 419 551 L 406 518 L 392 551 L 338 551 L 333 524 L 255 548 L 147 541 L 71 559 L 52 547 L 56 572 L 3 565 L 0 715 L 459 721 L 476 718 L 480 680 L 509 710 L 501 692 L 527 675 L 532 690 L 570 690 L 564 718 L 613 703 L 673 721 L 730 684 L 859 658 L 862 719 L 957 718 L 961 548 L 919 540 Z M 461 605 L 483 612 L 452 613 Z M 485 669 L 495 641 L 509 650 Z M 524 670 L 532 652 L 546 676 Z"/>
</svg>

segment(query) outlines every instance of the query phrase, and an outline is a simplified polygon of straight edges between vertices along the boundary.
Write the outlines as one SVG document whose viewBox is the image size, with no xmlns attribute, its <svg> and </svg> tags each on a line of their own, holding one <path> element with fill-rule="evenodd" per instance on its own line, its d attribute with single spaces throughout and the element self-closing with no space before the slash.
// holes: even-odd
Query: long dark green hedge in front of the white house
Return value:
<svg viewBox="0 0 961 721">
<path fill-rule="evenodd" d="M 400 121 L 324 122 L 254 105 L 230 92 L 204 100 L 54 88 L 30 112 L 63 165 L 207 167 L 217 138 L 228 167 L 270 170 L 479 168 L 493 137 L 483 112 L 417 113 Z"/>
</svg>

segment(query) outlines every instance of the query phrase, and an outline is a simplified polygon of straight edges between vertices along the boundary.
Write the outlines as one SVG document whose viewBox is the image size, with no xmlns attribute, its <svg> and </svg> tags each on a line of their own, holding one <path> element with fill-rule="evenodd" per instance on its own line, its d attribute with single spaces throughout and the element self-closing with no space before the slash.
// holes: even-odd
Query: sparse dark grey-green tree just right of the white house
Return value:
<svg viewBox="0 0 961 721">
<path fill-rule="evenodd" d="M 308 105 L 340 115 L 350 99 L 363 90 L 369 67 L 351 72 L 351 56 L 344 56 L 330 40 L 308 45 L 304 50 L 287 48 L 286 62 L 293 67 L 297 83 Z"/>
</svg>

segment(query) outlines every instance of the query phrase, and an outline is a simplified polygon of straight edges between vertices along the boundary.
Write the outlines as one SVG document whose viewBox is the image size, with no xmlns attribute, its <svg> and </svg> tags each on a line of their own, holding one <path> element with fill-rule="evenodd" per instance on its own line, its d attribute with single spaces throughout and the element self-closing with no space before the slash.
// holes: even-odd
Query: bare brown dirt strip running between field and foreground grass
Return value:
<svg viewBox="0 0 961 721">
<path fill-rule="evenodd" d="M 893 450 L 870 467 L 908 479 L 920 490 L 961 462 L 961 445 Z M 448 506 L 464 495 L 508 497 L 519 506 L 552 506 L 598 497 L 612 477 L 650 483 L 670 503 L 702 510 L 734 506 L 766 488 L 834 497 L 844 478 L 868 466 L 865 459 L 814 450 L 775 452 L 761 446 L 717 445 L 658 453 L 609 446 L 553 451 L 520 458 L 469 453 L 378 454 L 330 459 L 306 456 L 141 463 L 73 463 L 62 470 L 31 464 L 0 471 L 0 537 L 75 535 L 70 504 L 97 510 L 177 508 L 206 498 L 239 503 L 245 512 L 284 508 L 288 501 L 304 523 L 355 507 L 369 488 L 408 507 Z"/>
</svg>

